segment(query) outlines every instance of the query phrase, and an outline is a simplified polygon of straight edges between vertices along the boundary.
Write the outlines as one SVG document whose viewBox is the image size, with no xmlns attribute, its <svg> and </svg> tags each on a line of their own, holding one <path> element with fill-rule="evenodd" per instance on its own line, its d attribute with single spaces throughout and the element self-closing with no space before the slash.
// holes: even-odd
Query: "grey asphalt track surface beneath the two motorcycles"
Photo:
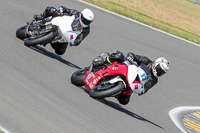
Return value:
<svg viewBox="0 0 200 133">
<path fill-rule="evenodd" d="M 198 106 L 200 48 L 79 1 L 1 0 L 0 125 L 12 133 L 181 133 L 168 112 Z M 53 49 L 28 48 L 15 36 L 18 27 L 48 5 L 91 8 L 90 35 L 63 56 Z M 71 74 L 100 53 L 120 50 L 160 56 L 169 72 L 143 96 L 122 106 L 114 98 L 94 100 L 71 84 Z"/>
</svg>

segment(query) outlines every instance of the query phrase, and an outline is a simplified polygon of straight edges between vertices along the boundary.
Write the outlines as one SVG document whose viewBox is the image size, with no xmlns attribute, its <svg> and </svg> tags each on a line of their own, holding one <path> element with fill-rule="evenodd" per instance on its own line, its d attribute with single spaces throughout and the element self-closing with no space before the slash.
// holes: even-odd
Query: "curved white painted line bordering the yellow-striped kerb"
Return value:
<svg viewBox="0 0 200 133">
<path fill-rule="evenodd" d="M 174 122 L 174 124 L 183 132 L 183 133 L 187 133 L 185 131 L 185 129 L 182 127 L 182 124 L 180 123 L 179 119 L 178 119 L 178 114 L 180 114 L 181 112 L 184 111 L 191 111 L 191 110 L 200 110 L 199 106 L 193 106 L 193 107 L 189 107 L 189 106 L 184 106 L 184 107 L 177 107 L 174 108 L 172 110 L 169 111 L 169 116 L 172 119 L 172 121 Z"/>
</svg>

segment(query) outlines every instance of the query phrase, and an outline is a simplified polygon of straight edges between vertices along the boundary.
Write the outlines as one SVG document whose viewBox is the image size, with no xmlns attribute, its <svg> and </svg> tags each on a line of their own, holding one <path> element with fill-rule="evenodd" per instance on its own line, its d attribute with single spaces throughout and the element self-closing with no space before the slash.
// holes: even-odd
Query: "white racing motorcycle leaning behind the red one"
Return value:
<svg viewBox="0 0 200 133">
<path fill-rule="evenodd" d="M 16 31 L 16 36 L 24 40 L 26 46 L 46 45 L 47 43 L 72 43 L 81 32 L 77 16 L 58 16 L 36 21 L 33 18 L 27 25 Z"/>
</svg>

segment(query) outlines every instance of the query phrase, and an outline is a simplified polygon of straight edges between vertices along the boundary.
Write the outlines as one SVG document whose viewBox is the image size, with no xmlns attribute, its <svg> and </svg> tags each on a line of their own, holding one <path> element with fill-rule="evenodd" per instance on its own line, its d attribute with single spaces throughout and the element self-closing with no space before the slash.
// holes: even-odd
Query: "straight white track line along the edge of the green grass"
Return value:
<svg viewBox="0 0 200 133">
<path fill-rule="evenodd" d="M 106 11 L 106 12 L 109 12 L 109 13 L 114 14 L 114 15 L 116 15 L 116 16 L 119 16 L 119 17 L 121 17 L 121 18 L 130 20 L 130 21 L 132 21 L 132 22 L 134 22 L 134 23 L 137 23 L 137 24 L 140 24 L 140 25 L 142 25 L 142 26 L 151 28 L 151 29 L 156 30 L 156 31 L 158 31 L 158 32 L 161 32 L 161 33 L 163 33 L 163 34 L 169 35 L 169 36 L 171 36 L 171 37 L 180 39 L 180 40 L 182 40 L 182 41 L 185 41 L 185 42 L 188 42 L 188 43 L 190 43 L 190 44 L 193 44 L 193 45 L 195 45 L 195 46 L 200 47 L 199 44 L 193 43 L 193 42 L 188 41 L 188 40 L 186 40 L 186 39 L 183 39 L 183 38 L 177 37 L 177 36 L 175 36 L 175 35 L 169 34 L 169 33 L 167 33 L 167 32 L 161 31 L 161 30 L 159 30 L 159 29 L 156 29 L 156 28 L 154 28 L 154 27 L 151 27 L 151 26 L 148 26 L 148 25 L 146 25 L 146 24 L 140 23 L 140 22 L 138 22 L 138 21 L 135 21 L 135 20 L 133 20 L 133 19 L 127 18 L 127 17 L 125 17 L 125 16 L 119 15 L 119 14 L 117 14 L 117 13 L 108 11 L 108 10 L 106 10 L 106 9 L 104 9 L 104 8 L 101 8 L 101 7 L 98 7 L 98 6 L 96 6 L 96 5 L 87 3 L 87 2 L 85 2 L 85 1 L 83 1 L 83 0 L 78 0 L 78 1 L 80 1 L 80 2 L 82 2 L 82 3 L 85 3 L 85 4 L 87 4 L 87 5 L 90 5 L 90 6 L 96 7 L 96 8 L 98 8 L 98 9 L 104 10 L 104 11 Z"/>
</svg>

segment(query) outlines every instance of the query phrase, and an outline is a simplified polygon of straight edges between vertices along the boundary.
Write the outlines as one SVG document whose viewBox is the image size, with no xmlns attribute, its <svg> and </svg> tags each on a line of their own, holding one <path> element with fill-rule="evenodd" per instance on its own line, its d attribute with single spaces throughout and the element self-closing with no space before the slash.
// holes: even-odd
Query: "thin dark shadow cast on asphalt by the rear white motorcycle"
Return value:
<svg viewBox="0 0 200 133">
<path fill-rule="evenodd" d="M 77 65 L 75 65 L 75 64 L 72 64 L 71 62 L 69 62 L 69 61 L 63 59 L 61 56 L 59 56 L 59 55 L 57 55 L 57 54 L 55 54 L 55 53 L 52 53 L 52 52 L 50 52 L 50 51 L 47 51 L 46 49 L 44 49 L 44 48 L 42 48 L 42 47 L 39 47 L 39 46 L 31 46 L 31 47 L 29 47 L 29 48 L 31 48 L 31 49 L 37 51 L 37 52 L 40 53 L 40 54 L 43 54 L 43 55 L 45 55 L 45 56 L 48 56 L 48 57 L 50 57 L 50 58 L 52 58 L 52 59 L 56 59 L 56 60 L 58 60 L 58 61 L 60 61 L 60 62 L 62 62 L 62 63 L 64 63 L 64 64 L 66 64 L 66 65 L 68 65 L 68 66 L 70 66 L 70 67 L 74 67 L 74 68 L 77 68 L 77 69 L 81 69 L 79 66 L 77 66 Z"/>
</svg>

